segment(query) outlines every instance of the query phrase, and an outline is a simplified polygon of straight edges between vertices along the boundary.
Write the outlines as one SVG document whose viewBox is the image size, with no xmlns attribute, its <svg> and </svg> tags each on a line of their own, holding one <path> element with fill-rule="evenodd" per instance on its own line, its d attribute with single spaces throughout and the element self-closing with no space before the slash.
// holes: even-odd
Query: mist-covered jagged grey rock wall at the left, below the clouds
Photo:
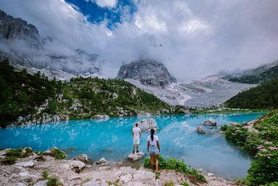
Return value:
<svg viewBox="0 0 278 186">
<path fill-rule="evenodd" d="M 0 60 L 8 58 L 19 69 L 27 68 L 31 73 L 40 70 L 49 78 L 100 76 L 96 64 L 102 59 L 97 54 L 88 54 L 81 49 L 66 54 L 59 49 L 49 50 L 55 43 L 52 38 L 42 38 L 33 24 L 0 10 Z"/>
</svg>

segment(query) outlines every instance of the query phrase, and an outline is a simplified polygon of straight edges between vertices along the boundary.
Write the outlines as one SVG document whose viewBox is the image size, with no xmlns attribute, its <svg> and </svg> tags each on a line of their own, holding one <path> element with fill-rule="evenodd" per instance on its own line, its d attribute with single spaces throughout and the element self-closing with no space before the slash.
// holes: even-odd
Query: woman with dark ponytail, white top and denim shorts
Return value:
<svg viewBox="0 0 278 186">
<path fill-rule="evenodd" d="M 156 160 L 156 173 L 158 173 L 158 154 L 161 152 L 158 143 L 158 137 L 154 135 L 154 129 L 151 129 L 151 135 L 148 136 L 148 146 L 147 151 L 149 152 L 149 157 L 151 157 L 152 170 L 154 171 L 154 157 Z"/>
</svg>

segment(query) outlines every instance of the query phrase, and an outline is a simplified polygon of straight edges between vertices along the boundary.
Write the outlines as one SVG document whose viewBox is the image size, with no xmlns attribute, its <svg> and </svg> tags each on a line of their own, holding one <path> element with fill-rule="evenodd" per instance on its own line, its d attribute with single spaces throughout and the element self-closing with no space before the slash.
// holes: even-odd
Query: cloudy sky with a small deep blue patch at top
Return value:
<svg viewBox="0 0 278 186">
<path fill-rule="evenodd" d="M 43 37 L 106 56 L 110 77 L 142 58 L 179 81 L 278 59 L 277 0 L 1 0 L 0 9 Z"/>
</svg>

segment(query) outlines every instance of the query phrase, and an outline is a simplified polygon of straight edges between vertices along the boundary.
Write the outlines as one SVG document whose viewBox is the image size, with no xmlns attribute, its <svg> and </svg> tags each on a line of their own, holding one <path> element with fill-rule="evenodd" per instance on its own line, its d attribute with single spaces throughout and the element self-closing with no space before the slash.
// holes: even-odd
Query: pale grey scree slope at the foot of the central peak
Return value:
<svg viewBox="0 0 278 186">
<path fill-rule="evenodd" d="M 164 88 L 145 86 L 135 79 L 124 79 L 143 91 L 156 95 L 157 98 L 172 105 L 186 107 L 218 106 L 240 91 L 256 86 L 255 84 L 239 84 L 229 82 L 220 77 L 206 77 L 193 80 L 190 84 L 169 84 Z"/>
</svg>

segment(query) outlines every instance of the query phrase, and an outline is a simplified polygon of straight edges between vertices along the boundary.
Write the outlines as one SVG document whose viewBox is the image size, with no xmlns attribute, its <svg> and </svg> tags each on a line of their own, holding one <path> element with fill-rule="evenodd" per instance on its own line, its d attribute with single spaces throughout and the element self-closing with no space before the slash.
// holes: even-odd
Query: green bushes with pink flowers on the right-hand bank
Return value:
<svg viewBox="0 0 278 186">
<path fill-rule="evenodd" d="M 238 180 L 245 185 L 275 185 L 278 182 L 278 111 L 270 111 L 254 124 L 259 132 L 249 132 L 240 125 L 230 125 L 226 139 L 256 155 L 247 177 Z"/>
</svg>

